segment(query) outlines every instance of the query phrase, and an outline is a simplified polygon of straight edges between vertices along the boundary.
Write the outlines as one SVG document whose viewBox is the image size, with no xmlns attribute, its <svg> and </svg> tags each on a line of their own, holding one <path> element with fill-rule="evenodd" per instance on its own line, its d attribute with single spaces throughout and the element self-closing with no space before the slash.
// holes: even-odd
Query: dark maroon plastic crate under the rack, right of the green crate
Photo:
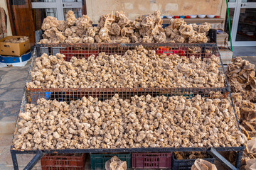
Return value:
<svg viewBox="0 0 256 170">
<path fill-rule="evenodd" d="M 163 153 L 132 153 L 134 169 L 170 169 L 171 152 Z"/>
</svg>

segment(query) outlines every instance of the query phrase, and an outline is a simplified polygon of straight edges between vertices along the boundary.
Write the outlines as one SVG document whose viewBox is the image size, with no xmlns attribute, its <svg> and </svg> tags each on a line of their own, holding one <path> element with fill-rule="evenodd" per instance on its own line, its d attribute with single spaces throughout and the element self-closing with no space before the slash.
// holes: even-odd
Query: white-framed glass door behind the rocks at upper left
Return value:
<svg viewBox="0 0 256 170">
<path fill-rule="evenodd" d="M 43 19 L 46 16 L 54 16 L 58 20 L 65 20 L 69 10 L 73 11 L 75 17 L 82 16 L 83 0 L 32 0 L 33 21 L 36 30 L 40 30 Z"/>
</svg>

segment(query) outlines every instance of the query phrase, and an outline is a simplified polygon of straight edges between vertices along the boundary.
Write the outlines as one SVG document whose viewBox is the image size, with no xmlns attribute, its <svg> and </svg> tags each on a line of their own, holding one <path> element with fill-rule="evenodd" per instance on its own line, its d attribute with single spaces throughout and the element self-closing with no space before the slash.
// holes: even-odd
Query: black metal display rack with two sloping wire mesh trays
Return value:
<svg viewBox="0 0 256 170">
<path fill-rule="evenodd" d="M 33 69 L 33 63 L 35 57 L 39 57 L 46 52 L 48 55 L 55 55 L 59 52 L 66 52 L 67 58 L 65 60 L 70 60 L 71 56 L 76 57 L 88 57 L 90 55 L 98 55 L 100 52 L 105 52 L 107 55 L 117 54 L 123 55 L 127 50 L 133 50 L 134 47 L 143 44 L 56 44 L 56 45 L 46 45 L 38 44 L 36 45 L 37 55 L 33 57 L 33 62 L 31 63 L 31 70 Z M 172 53 L 177 55 L 183 55 L 186 57 L 210 57 L 211 55 L 216 55 L 220 57 L 218 52 L 218 47 L 216 44 L 145 44 L 143 45 L 146 50 L 156 50 L 160 53 Z M 192 52 L 191 49 L 197 50 L 197 52 Z M 97 60 L 97 59 L 96 59 Z M 223 69 L 223 63 L 220 58 L 220 73 L 225 74 Z M 28 81 L 30 81 L 28 77 Z M 213 92 L 213 93 L 212 93 Z M 228 86 L 227 78 L 225 77 L 225 86 L 219 88 L 30 88 L 26 89 L 23 94 L 23 101 L 21 103 L 20 113 L 24 111 L 26 103 L 36 103 L 38 98 L 46 98 L 49 100 L 56 99 L 58 101 L 71 101 L 82 98 L 82 96 L 88 97 L 97 97 L 100 100 L 104 101 L 105 99 L 112 98 L 114 94 L 119 94 L 119 97 L 130 98 L 134 95 L 146 95 L 150 94 L 151 96 L 174 96 L 174 95 L 183 95 L 191 98 L 197 94 L 205 98 L 211 98 L 214 92 L 218 92 L 220 98 L 230 98 L 231 105 L 233 106 L 234 112 L 235 107 L 233 104 L 232 96 L 230 93 L 230 88 Z M 240 130 L 239 122 L 237 115 L 235 114 L 237 120 L 237 126 Z M 18 123 L 19 118 L 17 118 Z M 17 124 L 14 135 L 17 131 Z M 32 169 L 33 166 L 43 157 L 43 154 L 52 154 L 52 153 L 113 153 L 113 152 L 208 152 L 215 159 L 218 159 L 223 163 L 228 169 L 239 169 L 242 159 L 242 153 L 245 150 L 245 146 L 240 147 L 169 147 L 169 148 L 119 148 L 119 149 L 49 149 L 49 150 L 21 150 L 14 149 L 13 145 L 11 146 L 11 157 L 14 164 L 14 169 L 18 169 L 18 162 L 16 154 L 36 154 L 35 157 L 28 163 L 25 169 Z M 218 152 L 236 152 L 236 162 L 235 166 L 230 164 L 224 157 L 222 157 Z"/>
</svg>

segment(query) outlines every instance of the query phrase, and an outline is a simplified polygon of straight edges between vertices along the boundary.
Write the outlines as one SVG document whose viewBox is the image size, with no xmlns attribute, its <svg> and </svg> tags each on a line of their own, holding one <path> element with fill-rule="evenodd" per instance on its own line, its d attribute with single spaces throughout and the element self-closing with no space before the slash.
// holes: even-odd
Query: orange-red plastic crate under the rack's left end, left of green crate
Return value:
<svg viewBox="0 0 256 170">
<path fill-rule="evenodd" d="M 42 170 L 83 170 L 85 154 L 46 154 L 41 159 Z"/>
</svg>

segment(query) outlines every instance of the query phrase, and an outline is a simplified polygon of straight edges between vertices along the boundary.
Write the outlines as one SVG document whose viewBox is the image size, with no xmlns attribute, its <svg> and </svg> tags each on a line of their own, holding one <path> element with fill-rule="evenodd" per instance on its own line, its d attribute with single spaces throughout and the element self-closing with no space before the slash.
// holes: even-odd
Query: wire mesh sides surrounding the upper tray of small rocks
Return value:
<svg viewBox="0 0 256 170">
<path fill-rule="evenodd" d="M 208 44 L 178 44 L 178 43 L 162 43 L 162 44 L 37 44 L 36 45 L 36 56 L 33 57 L 31 62 L 31 70 L 33 71 L 33 65 L 35 62 L 35 57 L 40 57 L 43 53 L 48 55 L 55 55 L 57 53 L 63 53 L 65 55 L 65 60 L 69 61 L 71 57 L 75 56 L 78 58 L 87 58 L 90 55 L 95 55 L 97 60 L 97 55 L 100 52 L 105 52 L 107 55 L 124 55 L 127 50 L 134 50 L 139 45 L 142 45 L 146 50 L 156 50 L 156 54 L 166 55 L 177 54 L 180 56 L 207 58 L 215 55 L 220 57 L 218 52 L 218 47 L 214 43 Z M 220 57 L 219 63 L 219 74 L 225 74 L 223 69 L 223 64 Z M 29 74 L 28 81 L 31 81 Z M 228 81 L 225 76 L 225 86 L 219 88 L 27 88 L 28 91 L 28 101 L 31 103 L 36 103 L 38 98 L 46 99 L 56 99 L 58 101 L 71 101 L 82 98 L 82 96 L 92 96 L 100 98 L 100 100 L 110 99 L 114 94 L 119 94 L 122 98 L 130 98 L 134 95 L 146 95 L 151 96 L 159 95 L 196 95 L 201 94 L 208 97 L 210 91 L 220 91 L 225 94 L 228 92 Z"/>
</svg>

